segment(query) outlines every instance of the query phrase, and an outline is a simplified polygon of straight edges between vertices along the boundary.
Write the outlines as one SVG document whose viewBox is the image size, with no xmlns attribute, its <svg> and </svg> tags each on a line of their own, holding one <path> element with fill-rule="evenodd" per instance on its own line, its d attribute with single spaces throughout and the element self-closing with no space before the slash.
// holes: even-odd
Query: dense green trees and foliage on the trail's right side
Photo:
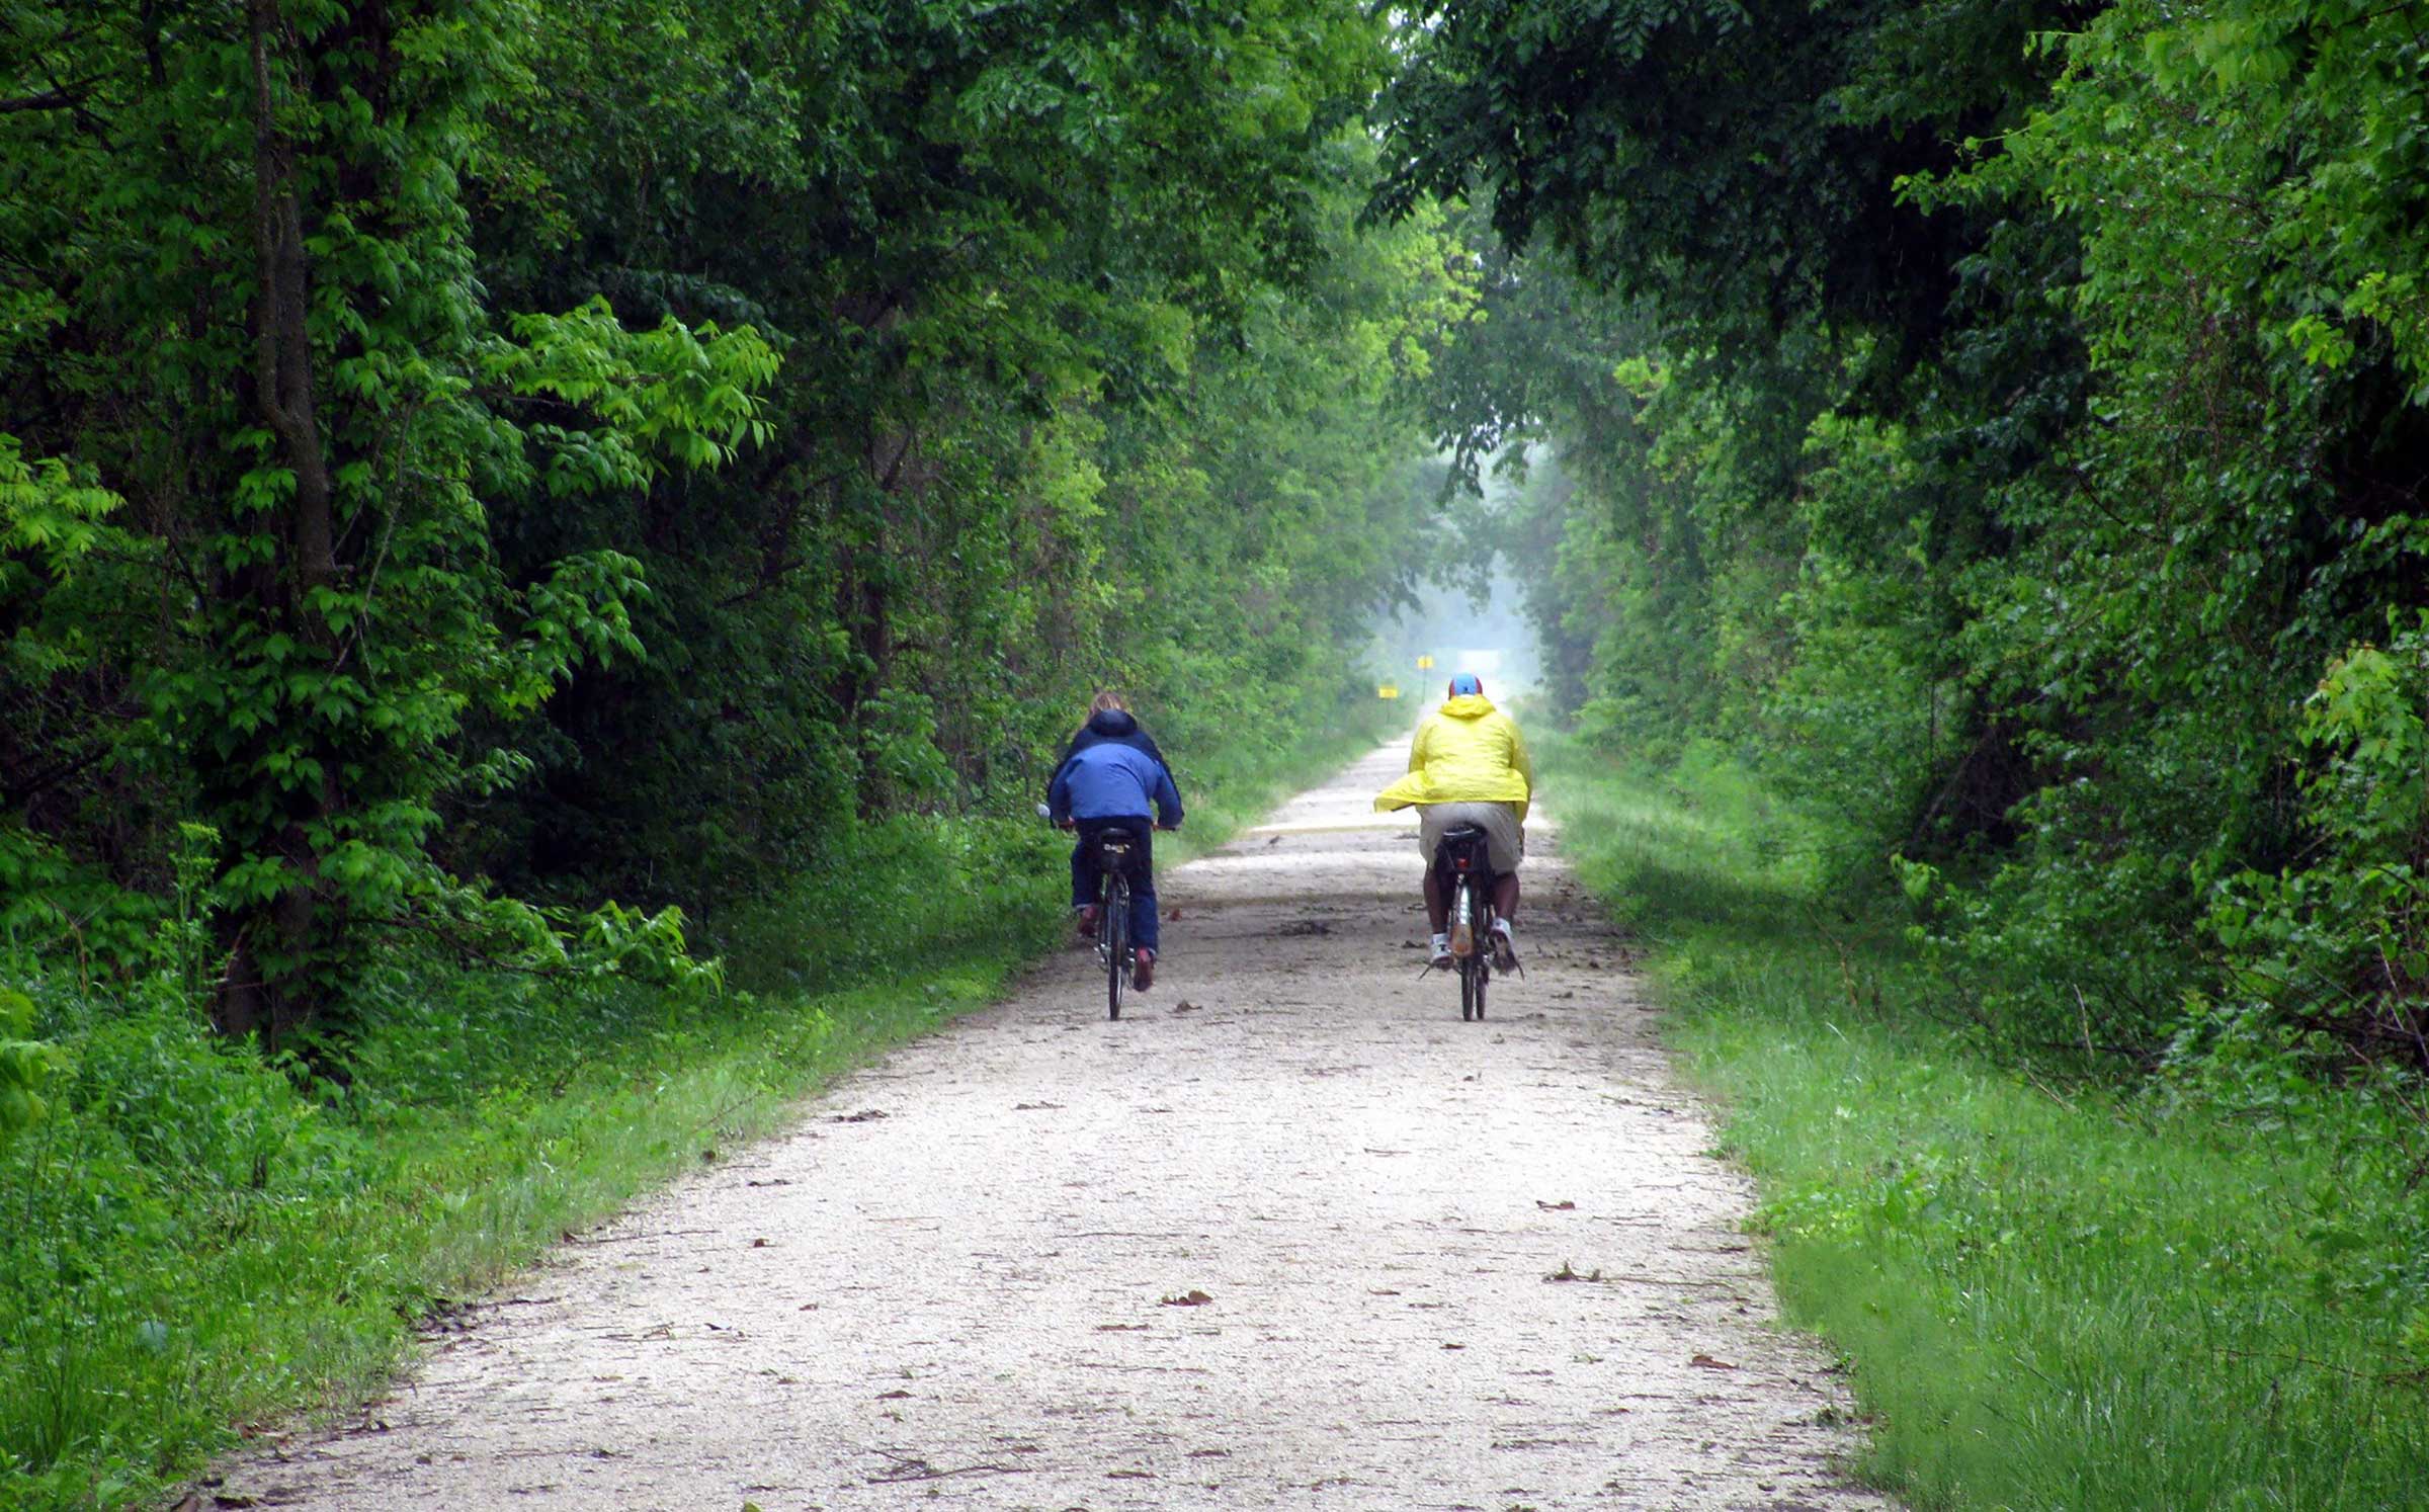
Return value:
<svg viewBox="0 0 2429 1512">
<path fill-rule="evenodd" d="M 1555 690 L 1829 805 L 2006 1045 L 2429 1072 L 2422 49 L 2315 0 L 1457 2 L 1392 85 L 1380 209 L 1477 207 L 1438 423 L 1533 442 Z"/>
</svg>

